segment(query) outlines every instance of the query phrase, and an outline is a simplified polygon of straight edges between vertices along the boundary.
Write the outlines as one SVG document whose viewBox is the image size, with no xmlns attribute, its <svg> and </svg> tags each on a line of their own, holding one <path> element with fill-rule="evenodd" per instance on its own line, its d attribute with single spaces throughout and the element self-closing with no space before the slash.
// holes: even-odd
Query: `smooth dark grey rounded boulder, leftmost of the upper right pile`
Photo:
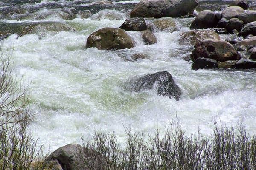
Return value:
<svg viewBox="0 0 256 170">
<path fill-rule="evenodd" d="M 190 29 L 207 29 L 216 27 L 218 24 L 218 18 L 211 10 L 204 10 L 199 12 L 195 17 L 195 20 L 190 25 Z"/>
</svg>

